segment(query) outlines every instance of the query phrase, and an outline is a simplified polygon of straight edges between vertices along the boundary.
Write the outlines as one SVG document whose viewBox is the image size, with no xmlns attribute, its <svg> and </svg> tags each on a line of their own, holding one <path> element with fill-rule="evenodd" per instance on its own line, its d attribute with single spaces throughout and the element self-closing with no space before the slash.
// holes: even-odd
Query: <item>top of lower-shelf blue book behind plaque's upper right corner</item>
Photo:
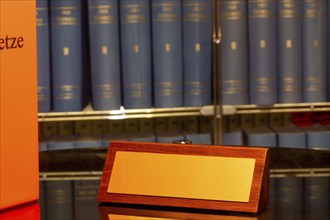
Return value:
<svg viewBox="0 0 330 220">
<path fill-rule="evenodd" d="M 244 129 L 246 145 L 258 147 L 276 147 L 276 134 L 270 128 L 264 126 L 259 128 Z"/>
</svg>

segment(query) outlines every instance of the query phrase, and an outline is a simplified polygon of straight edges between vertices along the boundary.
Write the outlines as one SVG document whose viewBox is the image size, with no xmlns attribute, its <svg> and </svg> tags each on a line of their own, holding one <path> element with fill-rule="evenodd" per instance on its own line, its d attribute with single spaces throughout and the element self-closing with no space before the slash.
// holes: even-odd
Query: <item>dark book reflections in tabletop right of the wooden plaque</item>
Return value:
<svg viewBox="0 0 330 220">
<path fill-rule="evenodd" d="M 327 219 L 329 206 L 328 176 L 270 178 L 270 219 Z"/>
</svg>

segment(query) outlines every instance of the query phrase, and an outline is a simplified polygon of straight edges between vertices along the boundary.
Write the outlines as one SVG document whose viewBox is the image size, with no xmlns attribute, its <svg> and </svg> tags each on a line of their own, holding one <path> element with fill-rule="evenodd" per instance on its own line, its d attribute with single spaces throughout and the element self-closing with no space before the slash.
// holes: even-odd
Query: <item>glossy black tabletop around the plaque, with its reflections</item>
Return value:
<svg viewBox="0 0 330 220">
<path fill-rule="evenodd" d="M 103 170 L 106 149 L 43 152 L 40 172 L 67 172 L 40 181 L 40 219 L 271 219 L 330 220 L 330 152 L 271 149 L 270 204 L 256 215 L 210 210 L 100 204 L 100 179 L 84 176 L 70 179 L 70 173 Z M 315 169 L 325 169 L 313 173 Z M 301 172 L 301 169 L 304 171 Z M 308 171 L 306 175 L 306 170 Z M 307 177 L 308 176 L 308 177 Z M 77 176 L 75 176 L 77 178 Z M 80 176 L 81 178 L 81 176 Z M 2 219 L 1 219 L 2 220 Z"/>
</svg>

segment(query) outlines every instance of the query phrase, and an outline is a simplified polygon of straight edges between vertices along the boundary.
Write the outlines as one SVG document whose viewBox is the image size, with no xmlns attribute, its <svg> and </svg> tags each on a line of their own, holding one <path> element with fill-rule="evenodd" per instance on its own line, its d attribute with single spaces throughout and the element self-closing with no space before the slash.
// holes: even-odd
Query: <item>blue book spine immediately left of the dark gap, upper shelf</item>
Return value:
<svg viewBox="0 0 330 220">
<path fill-rule="evenodd" d="M 81 1 L 51 0 L 51 51 L 54 111 L 82 109 Z"/>
</svg>

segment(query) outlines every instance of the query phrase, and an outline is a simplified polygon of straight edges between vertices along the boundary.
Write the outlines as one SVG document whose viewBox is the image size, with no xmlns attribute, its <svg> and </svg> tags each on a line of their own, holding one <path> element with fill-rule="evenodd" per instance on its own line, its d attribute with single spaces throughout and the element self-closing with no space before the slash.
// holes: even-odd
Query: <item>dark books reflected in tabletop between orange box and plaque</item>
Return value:
<svg viewBox="0 0 330 220">
<path fill-rule="evenodd" d="M 40 181 L 40 219 L 95 219 L 99 188 L 99 179 Z"/>
</svg>

